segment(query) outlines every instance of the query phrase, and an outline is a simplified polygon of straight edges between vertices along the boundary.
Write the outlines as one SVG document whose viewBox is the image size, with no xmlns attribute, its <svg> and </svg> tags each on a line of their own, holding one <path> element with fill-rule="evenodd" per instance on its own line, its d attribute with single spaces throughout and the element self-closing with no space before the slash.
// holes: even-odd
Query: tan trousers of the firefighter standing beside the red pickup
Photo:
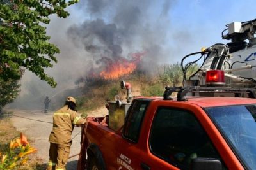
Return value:
<svg viewBox="0 0 256 170">
<path fill-rule="evenodd" d="M 47 170 L 65 170 L 70 153 L 70 145 L 50 143 L 49 162 Z"/>
</svg>

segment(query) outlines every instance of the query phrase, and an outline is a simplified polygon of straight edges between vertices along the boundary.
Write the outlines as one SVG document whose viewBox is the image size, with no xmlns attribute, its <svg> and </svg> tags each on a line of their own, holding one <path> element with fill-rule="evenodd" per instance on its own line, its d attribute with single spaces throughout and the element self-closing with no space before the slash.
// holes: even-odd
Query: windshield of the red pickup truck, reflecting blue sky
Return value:
<svg viewBox="0 0 256 170">
<path fill-rule="evenodd" d="M 256 104 L 205 109 L 248 169 L 256 169 Z"/>
</svg>

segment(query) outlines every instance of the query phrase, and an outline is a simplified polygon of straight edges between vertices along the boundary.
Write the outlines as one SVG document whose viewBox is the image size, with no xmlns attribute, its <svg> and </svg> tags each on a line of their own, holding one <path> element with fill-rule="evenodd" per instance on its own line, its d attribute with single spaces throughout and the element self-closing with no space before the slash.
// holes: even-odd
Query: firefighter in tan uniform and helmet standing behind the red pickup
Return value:
<svg viewBox="0 0 256 170">
<path fill-rule="evenodd" d="M 67 97 L 65 106 L 53 115 L 53 127 L 49 136 L 49 163 L 47 170 L 65 170 L 72 143 L 74 126 L 86 123 L 86 113 L 81 116 L 76 110 L 76 99 Z"/>
</svg>

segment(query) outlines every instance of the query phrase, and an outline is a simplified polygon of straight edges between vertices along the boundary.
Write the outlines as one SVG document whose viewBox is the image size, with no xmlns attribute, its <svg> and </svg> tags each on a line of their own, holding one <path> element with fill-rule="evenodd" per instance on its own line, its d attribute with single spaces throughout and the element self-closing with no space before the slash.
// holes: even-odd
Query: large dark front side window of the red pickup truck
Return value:
<svg viewBox="0 0 256 170">
<path fill-rule="evenodd" d="M 196 157 L 221 160 L 195 116 L 175 108 L 157 110 L 150 132 L 150 150 L 180 169 L 189 169 Z"/>
</svg>

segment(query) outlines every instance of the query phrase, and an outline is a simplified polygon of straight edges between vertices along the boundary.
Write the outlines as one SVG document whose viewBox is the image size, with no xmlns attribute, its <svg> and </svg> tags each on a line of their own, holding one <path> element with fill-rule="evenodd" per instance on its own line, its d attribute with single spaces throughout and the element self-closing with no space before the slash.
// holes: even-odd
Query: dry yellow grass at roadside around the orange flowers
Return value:
<svg viewBox="0 0 256 170">
<path fill-rule="evenodd" d="M 12 113 L 0 114 L 0 152 L 8 152 L 10 141 L 17 136 L 20 136 L 20 132 L 13 126 L 10 117 Z M 25 134 L 26 135 L 26 134 Z M 29 140 L 29 139 L 28 139 Z M 29 140 L 29 143 L 33 146 L 33 141 Z M 17 167 L 18 170 L 42 170 L 46 169 L 46 165 L 42 164 L 42 159 L 36 157 L 35 153 L 30 155 L 30 160 L 22 167 Z"/>
</svg>

